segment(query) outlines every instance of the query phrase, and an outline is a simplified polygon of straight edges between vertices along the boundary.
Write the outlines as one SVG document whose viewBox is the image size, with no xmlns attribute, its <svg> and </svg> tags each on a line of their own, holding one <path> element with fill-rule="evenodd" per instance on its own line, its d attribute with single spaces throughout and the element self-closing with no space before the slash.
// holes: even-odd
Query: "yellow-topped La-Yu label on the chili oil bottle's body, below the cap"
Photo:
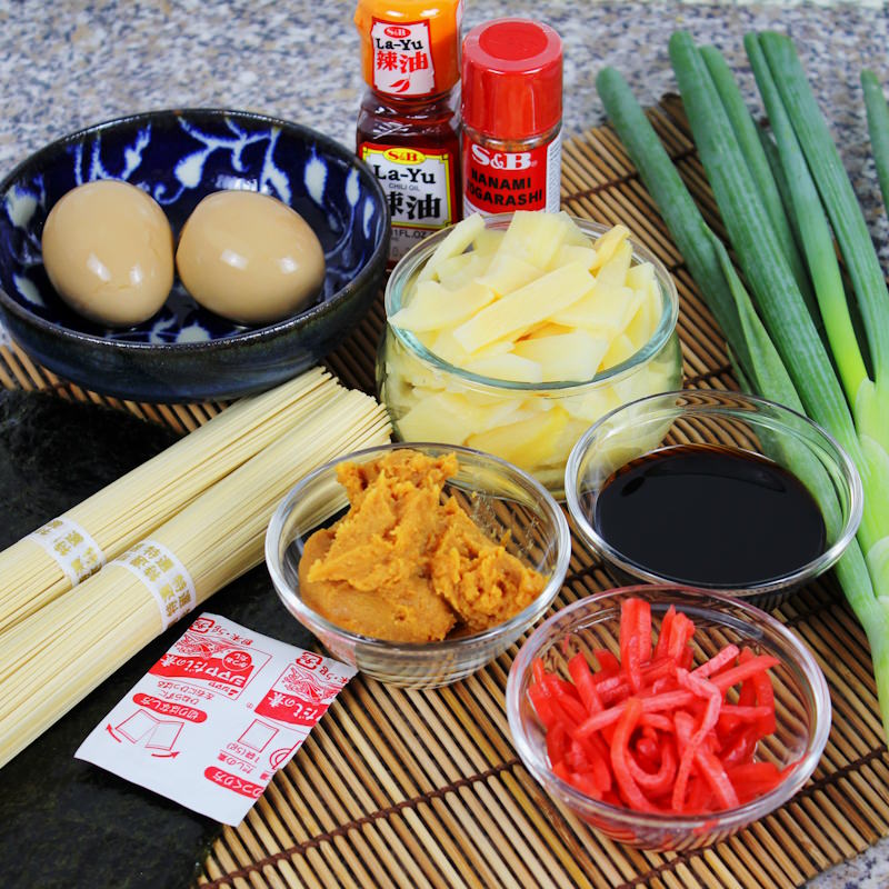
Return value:
<svg viewBox="0 0 889 889">
<path fill-rule="evenodd" d="M 382 186 L 392 218 L 390 259 L 455 220 L 455 160 L 449 151 L 362 142 L 359 154 Z"/>
</svg>

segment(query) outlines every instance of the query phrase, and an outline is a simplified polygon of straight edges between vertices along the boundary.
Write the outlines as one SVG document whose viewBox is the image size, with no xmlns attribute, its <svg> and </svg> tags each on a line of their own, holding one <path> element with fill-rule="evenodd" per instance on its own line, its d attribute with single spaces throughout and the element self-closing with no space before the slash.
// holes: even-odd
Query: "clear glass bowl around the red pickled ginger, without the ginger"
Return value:
<svg viewBox="0 0 889 889">
<path fill-rule="evenodd" d="M 592 799 L 558 778 L 547 759 L 545 730 L 528 697 L 532 662 L 569 678 L 567 662 L 579 651 L 588 656 L 607 648 L 619 656 L 617 643 L 621 602 L 630 597 L 651 603 L 657 632 L 672 605 L 695 621 L 696 662 L 725 645 L 747 645 L 756 653 L 776 656 L 772 668 L 777 731 L 759 742 L 756 758 L 779 768 L 792 762 L 773 790 L 735 809 L 707 815 L 637 812 Z M 619 842 L 652 850 L 686 850 L 726 839 L 789 800 L 809 779 L 830 731 L 830 695 L 808 649 L 782 625 L 746 602 L 719 593 L 676 586 L 627 587 L 580 599 L 546 620 L 531 633 L 512 663 L 507 682 L 507 716 L 516 750 L 546 791 L 597 830 Z"/>
</svg>

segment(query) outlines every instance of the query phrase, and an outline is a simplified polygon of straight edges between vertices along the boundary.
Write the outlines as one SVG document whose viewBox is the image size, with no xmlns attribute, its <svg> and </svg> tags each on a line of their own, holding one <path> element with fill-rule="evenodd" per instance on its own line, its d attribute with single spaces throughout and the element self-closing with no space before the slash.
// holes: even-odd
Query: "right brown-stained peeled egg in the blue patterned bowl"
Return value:
<svg viewBox="0 0 889 889">
<path fill-rule="evenodd" d="M 182 229 L 176 266 L 201 306 L 244 324 L 294 314 L 324 279 L 324 253 L 306 220 L 256 191 L 208 194 Z"/>
</svg>

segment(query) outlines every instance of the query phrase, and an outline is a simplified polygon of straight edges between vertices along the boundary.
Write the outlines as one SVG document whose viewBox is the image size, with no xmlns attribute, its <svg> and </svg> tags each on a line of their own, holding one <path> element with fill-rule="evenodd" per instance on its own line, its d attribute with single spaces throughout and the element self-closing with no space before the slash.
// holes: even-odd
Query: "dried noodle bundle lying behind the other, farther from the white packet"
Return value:
<svg viewBox="0 0 889 889">
<path fill-rule="evenodd" d="M 98 569 L 141 540 L 292 429 L 336 388 L 330 374 L 316 368 L 269 392 L 242 399 L 44 526 L 46 536 L 31 535 L 0 552 L 0 631 L 68 592 L 78 577 L 88 575 L 90 561 Z M 103 558 L 94 552 L 83 558 L 89 547 L 81 538 L 94 543 L 93 550 L 101 550 Z M 82 558 L 82 563 L 74 558 Z"/>
</svg>

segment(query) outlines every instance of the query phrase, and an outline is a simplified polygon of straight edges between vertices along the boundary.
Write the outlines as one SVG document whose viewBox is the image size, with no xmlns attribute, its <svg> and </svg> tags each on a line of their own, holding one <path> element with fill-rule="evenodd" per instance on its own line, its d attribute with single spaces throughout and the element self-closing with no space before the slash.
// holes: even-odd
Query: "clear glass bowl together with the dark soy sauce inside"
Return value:
<svg viewBox="0 0 889 889">
<path fill-rule="evenodd" d="M 575 444 L 565 491 L 578 538 L 619 582 L 719 590 L 766 610 L 837 562 L 862 512 L 861 479 L 829 432 L 710 389 L 602 417 Z"/>
</svg>

